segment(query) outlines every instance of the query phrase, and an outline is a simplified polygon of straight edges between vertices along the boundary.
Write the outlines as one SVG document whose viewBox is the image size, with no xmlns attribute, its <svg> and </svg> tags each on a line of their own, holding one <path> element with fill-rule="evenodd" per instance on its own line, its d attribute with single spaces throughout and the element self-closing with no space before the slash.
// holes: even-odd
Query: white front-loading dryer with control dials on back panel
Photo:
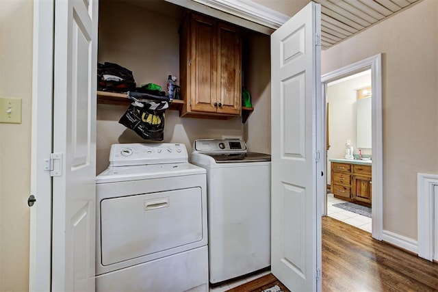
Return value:
<svg viewBox="0 0 438 292">
<path fill-rule="evenodd" d="M 208 291 L 206 174 L 184 144 L 112 145 L 96 196 L 97 291 Z"/>
</svg>

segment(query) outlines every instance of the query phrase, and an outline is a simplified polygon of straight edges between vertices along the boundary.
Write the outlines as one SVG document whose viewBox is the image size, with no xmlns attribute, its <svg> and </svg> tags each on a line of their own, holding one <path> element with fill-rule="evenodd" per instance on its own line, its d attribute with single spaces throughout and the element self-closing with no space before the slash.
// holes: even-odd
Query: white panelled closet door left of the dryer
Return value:
<svg viewBox="0 0 438 292">
<path fill-rule="evenodd" d="M 97 15 L 55 1 L 53 291 L 94 291 Z"/>
</svg>

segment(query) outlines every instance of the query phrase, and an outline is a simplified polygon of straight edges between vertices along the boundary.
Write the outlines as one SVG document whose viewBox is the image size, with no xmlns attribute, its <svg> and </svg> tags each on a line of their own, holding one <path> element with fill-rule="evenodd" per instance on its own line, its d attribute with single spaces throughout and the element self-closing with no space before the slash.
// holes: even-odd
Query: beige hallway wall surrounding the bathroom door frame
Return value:
<svg viewBox="0 0 438 292">
<path fill-rule="evenodd" d="M 322 52 L 322 74 L 383 53 L 383 229 L 417 239 L 417 172 L 438 173 L 438 1 Z"/>
</svg>

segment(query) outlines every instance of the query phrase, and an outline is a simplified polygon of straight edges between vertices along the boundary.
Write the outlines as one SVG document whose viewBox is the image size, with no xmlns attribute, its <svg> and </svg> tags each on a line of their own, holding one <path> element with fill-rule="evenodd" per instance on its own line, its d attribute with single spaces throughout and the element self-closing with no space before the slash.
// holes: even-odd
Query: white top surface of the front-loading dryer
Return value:
<svg viewBox="0 0 438 292">
<path fill-rule="evenodd" d="M 140 179 L 164 178 L 205 174 L 204 168 L 191 163 L 165 163 L 150 165 L 110 166 L 96 176 L 96 183 L 138 181 Z"/>
</svg>

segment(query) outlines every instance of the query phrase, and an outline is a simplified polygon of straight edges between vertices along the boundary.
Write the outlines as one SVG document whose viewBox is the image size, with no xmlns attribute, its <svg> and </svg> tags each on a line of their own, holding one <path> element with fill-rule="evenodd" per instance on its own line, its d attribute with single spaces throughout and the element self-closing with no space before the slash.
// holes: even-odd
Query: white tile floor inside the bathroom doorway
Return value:
<svg viewBox="0 0 438 292">
<path fill-rule="evenodd" d="M 371 233 L 371 218 L 333 207 L 333 204 L 342 202 L 345 201 L 333 197 L 333 194 L 327 194 L 327 215 Z"/>
</svg>

